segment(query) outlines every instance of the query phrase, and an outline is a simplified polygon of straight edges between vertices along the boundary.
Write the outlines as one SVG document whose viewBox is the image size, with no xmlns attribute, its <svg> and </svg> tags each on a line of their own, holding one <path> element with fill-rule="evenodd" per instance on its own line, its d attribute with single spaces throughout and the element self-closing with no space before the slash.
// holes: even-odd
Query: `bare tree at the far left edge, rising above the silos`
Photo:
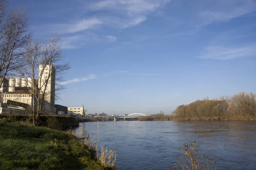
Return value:
<svg viewBox="0 0 256 170">
<path fill-rule="evenodd" d="M 23 48 L 30 38 L 26 11 L 6 10 L 6 4 L 0 0 L 0 87 L 7 76 L 23 66 Z"/>
</svg>

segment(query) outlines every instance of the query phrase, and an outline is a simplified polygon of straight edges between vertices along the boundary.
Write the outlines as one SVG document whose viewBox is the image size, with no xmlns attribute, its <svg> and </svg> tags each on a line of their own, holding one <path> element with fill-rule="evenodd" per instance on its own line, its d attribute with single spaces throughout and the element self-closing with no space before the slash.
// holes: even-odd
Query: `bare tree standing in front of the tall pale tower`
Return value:
<svg viewBox="0 0 256 170">
<path fill-rule="evenodd" d="M 61 85 L 63 74 L 70 68 L 64 62 L 61 36 L 53 35 L 46 43 L 29 41 L 23 62 L 25 65 L 20 69 L 20 74 L 27 81 L 27 93 L 34 101 L 30 113 L 36 125 L 41 114 L 54 112 L 55 94 L 64 88 Z"/>
</svg>

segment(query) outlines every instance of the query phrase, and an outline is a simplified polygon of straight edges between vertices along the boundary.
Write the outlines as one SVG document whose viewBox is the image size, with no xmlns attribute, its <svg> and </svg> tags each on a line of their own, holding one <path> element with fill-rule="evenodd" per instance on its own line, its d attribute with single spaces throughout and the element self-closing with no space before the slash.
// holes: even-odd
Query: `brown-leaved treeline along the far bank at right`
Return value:
<svg viewBox="0 0 256 170">
<path fill-rule="evenodd" d="M 179 105 L 173 114 L 180 120 L 253 120 L 256 119 L 256 94 L 240 92 L 231 97 L 197 100 Z"/>
</svg>

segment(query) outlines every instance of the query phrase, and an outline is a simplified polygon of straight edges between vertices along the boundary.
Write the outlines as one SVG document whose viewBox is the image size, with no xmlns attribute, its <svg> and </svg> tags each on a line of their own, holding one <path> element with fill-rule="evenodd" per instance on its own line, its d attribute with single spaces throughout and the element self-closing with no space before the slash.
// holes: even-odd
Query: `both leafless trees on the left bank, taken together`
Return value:
<svg viewBox="0 0 256 170">
<path fill-rule="evenodd" d="M 54 34 L 49 40 L 33 38 L 26 11 L 7 10 L 6 6 L 6 0 L 0 0 L 0 86 L 5 78 L 14 75 L 31 78 L 32 86 L 24 92 L 32 96 L 29 112 L 36 125 L 39 116 L 45 113 L 44 102 L 55 99 L 47 90 L 50 82 L 55 79 L 53 91 L 58 94 L 64 88 L 61 81 L 70 66 L 64 61 L 60 35 Z M 42 67 L 41 72 L 39 65 Z"/>
</svg>

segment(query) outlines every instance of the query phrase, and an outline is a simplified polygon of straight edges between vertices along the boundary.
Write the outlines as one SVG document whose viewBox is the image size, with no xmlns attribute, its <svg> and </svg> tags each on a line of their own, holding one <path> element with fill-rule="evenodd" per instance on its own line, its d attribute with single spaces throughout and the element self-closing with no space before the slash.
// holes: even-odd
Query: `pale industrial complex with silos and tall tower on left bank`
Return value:
<svg viewBox="0 0 256 170">
<path fill-rule="evenodd" d="M 0 87 L 0 102 L 15 101 L 32 105 L 31 88 L 33 82 L 35 88 L 40 88 L 40 94 L 44 95 L 44 110 L 47 113 L 54 113 L 55 108 L 55 68 L 53 65 L 39 65 L 38 79 L 32 78 L 9 78 L 2 79 L 3 83 Z M 29 90 L 30 89 L 30 90 Z M 0 106 L 1 107 L 1 106 Z"/>
</svg>

